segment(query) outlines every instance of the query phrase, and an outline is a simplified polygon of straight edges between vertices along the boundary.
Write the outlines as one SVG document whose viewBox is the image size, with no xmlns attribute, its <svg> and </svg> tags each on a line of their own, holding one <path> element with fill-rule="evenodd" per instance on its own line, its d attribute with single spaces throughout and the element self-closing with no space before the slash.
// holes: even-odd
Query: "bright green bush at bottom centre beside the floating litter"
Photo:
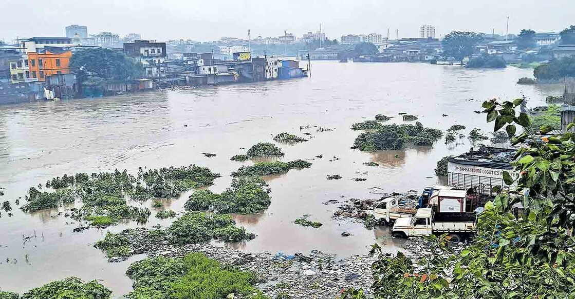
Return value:
<svg viewBox="0 0 575 299">
<path fill-rule="evenodd" d="M 178 259 L 147 258 L 132 263 L 126 274 L 134 281 L 129 299 L 148 294 L 151 297 L 145 298 L 220 299 L 231 293 L 244 298 L 266 298 L 254 288 L 253 273 L 224 267 L 201 253 Z M 257 297 L 252 297 L 254 293 Z"/>
</svg>

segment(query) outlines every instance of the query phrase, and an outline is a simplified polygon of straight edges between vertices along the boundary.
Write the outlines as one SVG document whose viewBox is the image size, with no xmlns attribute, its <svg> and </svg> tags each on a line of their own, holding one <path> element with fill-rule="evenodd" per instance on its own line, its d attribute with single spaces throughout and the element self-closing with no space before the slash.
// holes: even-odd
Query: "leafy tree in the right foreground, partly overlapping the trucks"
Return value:
<svg viewBox="0 0 575 299">
<path fill-rule="evenodd" d="M 575 134 L 538 137 L 551 127 L 534 129 L 528 115 L 516 111 L 523 101 L 482 105 L 494 131 L 527 145 L 515 154 L 513 172 L 503 174 L 517 189 L 495 188 L 499 194 L 485 204 L 477 236 L 461 254 L 444 257 L 447 236 L 428 238 L 431 257 L 419 258 L 417 267 L 374 247 L 375 298 L 575 298 Z M 348 290 L 342 298 L 366 298 L 356 294 Z"/>
</svg>

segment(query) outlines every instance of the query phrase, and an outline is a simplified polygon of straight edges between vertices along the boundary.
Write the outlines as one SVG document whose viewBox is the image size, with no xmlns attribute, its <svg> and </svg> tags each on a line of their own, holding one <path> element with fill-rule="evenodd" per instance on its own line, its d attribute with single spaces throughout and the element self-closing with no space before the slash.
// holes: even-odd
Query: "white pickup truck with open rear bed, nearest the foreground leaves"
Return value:
<svg viewBox="0 0 575 299">
<path fill-rule="evenodd" d="M 459 242 L 476 232 L 475 220 L 475 213 L 434 213 L 432 208 L 419 208 L 415 216 L 396 220 L 392 236 L 408 238 L 447 233 L 452 242 Z"/>
</svg>

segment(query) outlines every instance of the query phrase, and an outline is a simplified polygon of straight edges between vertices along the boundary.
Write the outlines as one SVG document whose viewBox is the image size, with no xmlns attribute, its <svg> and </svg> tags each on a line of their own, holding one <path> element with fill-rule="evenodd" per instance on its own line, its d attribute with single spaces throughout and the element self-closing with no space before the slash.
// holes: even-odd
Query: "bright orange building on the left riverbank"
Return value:
<svg viewBox="0 0 575 299">
<path fill-rule="evenodd" d="M 45 46 L 28 52 L 29 73 L 26 76 L 45 81 L 46 76 L 60 73 L 70 73 L 72 51 L 67 48 Z"/>
</svg>

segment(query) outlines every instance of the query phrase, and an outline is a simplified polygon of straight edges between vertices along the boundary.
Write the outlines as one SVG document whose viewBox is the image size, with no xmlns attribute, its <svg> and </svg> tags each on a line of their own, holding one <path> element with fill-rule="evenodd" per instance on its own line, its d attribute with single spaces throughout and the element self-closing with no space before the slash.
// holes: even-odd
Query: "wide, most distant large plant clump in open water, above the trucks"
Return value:
<svg viewBox="0 0 575 299">
<path fill-rule="evenodd" d="M 442 131 L 426 128 L 420 122 L 415 125 L 384 125 L 377 131 L 359 134 L 355 138 L 354 148 L 370 152 L 403 149 L 408 142 L 414 145 L 432 145 L 442 135 Z"/>
</svg>

